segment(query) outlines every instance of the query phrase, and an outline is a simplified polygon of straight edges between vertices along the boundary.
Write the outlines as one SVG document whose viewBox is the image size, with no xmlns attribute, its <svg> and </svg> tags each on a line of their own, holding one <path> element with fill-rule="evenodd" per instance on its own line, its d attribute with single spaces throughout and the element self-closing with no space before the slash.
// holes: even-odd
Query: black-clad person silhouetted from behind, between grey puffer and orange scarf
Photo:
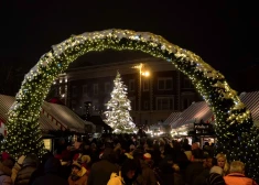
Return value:
<svg viewBox="0 0 259 185">
<path fill-rule="evenodd" d="M 44 164 L 45 175 L 37 177 L 32 185 L 68 185 L 68 182 L 60 176 L 60 160 L 50 157 Z"/>
</svg>

